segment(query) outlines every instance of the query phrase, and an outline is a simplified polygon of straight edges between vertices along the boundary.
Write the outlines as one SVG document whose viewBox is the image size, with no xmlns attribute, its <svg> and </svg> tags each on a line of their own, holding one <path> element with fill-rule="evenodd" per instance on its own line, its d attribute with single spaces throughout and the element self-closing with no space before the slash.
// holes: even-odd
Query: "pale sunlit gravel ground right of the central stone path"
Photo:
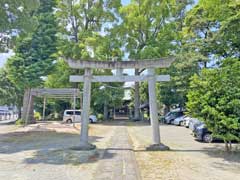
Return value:
<svg viewBox="0 0 240 180">
<path fill-rule="evenodd" d="M 160 130 L 162 142 L 171 151 L 145 151 L 151 144 L 151 127 L 144 124 L 128 127 L 142 179 L 240 179 L 240 152 L 228 154 L 222 151 L 223 143 L 195 141 L 191 131 L 185 127 L 162 125 Z"/>
</svg>

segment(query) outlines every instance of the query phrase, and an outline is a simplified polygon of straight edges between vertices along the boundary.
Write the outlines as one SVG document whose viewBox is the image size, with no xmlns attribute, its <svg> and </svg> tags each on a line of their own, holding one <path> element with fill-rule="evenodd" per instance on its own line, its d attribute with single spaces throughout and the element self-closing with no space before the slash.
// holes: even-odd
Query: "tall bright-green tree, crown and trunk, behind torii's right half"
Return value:
<svg viewBox="0 0 240 180">
<path fill-rule="evenodd" d="M 160 58 L 171 54 L 173 21 L 189 1 L 134 0 L 120 9 L 120 31 L 131 59 Z M 138 75 L 139 70 L 135 71 Z M 139 119 L 139 83 L 135 83 L 135 119 Z"/>
</svg>

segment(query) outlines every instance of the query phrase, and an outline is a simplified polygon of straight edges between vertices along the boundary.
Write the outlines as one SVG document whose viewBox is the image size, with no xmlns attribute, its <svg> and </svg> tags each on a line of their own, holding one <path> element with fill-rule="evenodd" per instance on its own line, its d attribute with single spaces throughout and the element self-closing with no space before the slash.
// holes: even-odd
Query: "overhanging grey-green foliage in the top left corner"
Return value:
<svg viewBox="0 0 240 180">
<path fill-rule="evenodd" d="M 0 52 L 14 47 L 17 34 L 31 32 L 37 25 L 33 12 L 38 0 L 0 1 Z"/>
</svg>

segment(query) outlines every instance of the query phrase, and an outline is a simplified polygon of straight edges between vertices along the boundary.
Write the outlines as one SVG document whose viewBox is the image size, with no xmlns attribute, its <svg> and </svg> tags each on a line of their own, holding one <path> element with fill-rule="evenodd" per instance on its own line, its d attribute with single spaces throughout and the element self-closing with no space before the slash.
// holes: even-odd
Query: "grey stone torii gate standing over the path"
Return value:
<svg viewBox="0 0 240 180">
<path fill-rule="evenodd" d="M 168 150 L 169 147 L 160 141 L 160 130 L 158 121 L 158 111 L 156 102 L 156 81 L 170 81 L 169 75 L 155 75 L 156 68 L 166 68 L 174 61 L 173 58 L 163 58 L 158 60 L 139 60 L 139 61 L 76 61 L 68 59 L 70 68 L 85 69 L 84 76 L 72 75 L 70 82 L 84 82 L 83 87 L 83 107 L 80 145 L 78 150 L 90 150 L 96 148 L 88 142 L 88 119 L 91 98 L 91 82 L 140 82 L 148 81 L 150 119 L 152 126 L 153 144 L 148 150 Z M 143 69 L 146 68 L 147 75 L 126 76 L 123 69 Z M 93 76 L 92 69 L 116 69 L 115 76 Z"/>
</svg>

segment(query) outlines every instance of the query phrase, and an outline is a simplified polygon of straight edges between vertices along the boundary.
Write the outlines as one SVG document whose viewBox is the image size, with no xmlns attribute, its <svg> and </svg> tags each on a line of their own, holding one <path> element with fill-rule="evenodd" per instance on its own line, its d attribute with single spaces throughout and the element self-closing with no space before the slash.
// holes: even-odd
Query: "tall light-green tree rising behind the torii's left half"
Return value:
<svg viewBox="0 0 240 180">
<path fill-rule="evenodd" d="M 120 0 L 59 0 L 57 10 L 60 24 L 59 54 L 76 60 L 112 60 L 115 56 L 121 58 L 121 41 L 117 41 L 110 31 L 111 27 L 109 28 L 117 21 L 116 13 L 120 5 Z M 76 70 L 72 73 L 82 72 Z M 94 73 L 112 74 L 105 70 L 95 70 Z M 81 84 L 77 83 L 72 86 L 81 88 Z M 105 99 L 109 99 L 108 93 L 99 91 L 100 86 L 100 83 L 92 86 L 93 96 L 99 99 L 106 95 Z M 96 100 L 92 103 L 94 111 L 99 111 L 97 105 L 102 106 L 102 102 Z M 110 104 L 105 103 L 105 109 Z"/>
</svg>

